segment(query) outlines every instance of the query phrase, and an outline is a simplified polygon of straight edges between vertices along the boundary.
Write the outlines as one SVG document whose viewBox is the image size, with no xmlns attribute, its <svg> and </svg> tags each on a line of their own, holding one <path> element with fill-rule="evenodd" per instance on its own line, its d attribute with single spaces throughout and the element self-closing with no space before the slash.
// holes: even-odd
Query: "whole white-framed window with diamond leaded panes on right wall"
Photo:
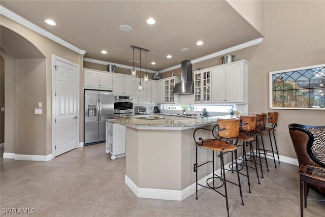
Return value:
<svg viewBox="0 0 325 217">
<path fill-rule="evenodd" d="M 270 108 L 325 109 L 325 64 L 270 72 Z"/>
</svg>

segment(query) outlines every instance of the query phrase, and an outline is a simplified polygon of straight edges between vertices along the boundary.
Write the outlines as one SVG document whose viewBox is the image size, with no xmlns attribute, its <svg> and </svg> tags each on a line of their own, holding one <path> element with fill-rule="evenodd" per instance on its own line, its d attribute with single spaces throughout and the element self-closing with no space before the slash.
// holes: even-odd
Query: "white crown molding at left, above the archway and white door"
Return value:
<svg viewBox="0 0 325 217">
<path fill-rule="evenodd" d="M 18 14 L 8 10 L 7 8 L 5 8 L 4 6 L 0 5 L 0 14 L 16 21 L 17 23 L 23 25 L 23 26 L 26 26 L 27 28 L 30 28 L 31 30 L 33 30 L 34 32 L 37 32 L 39 34 L 41 34 L 42 36 L 45 36 L 46 38 L 49 38 L 51 39 L 52 41 L 64 46 L 64 47 L 67 47 L 79 54 L 82 54 L 82 55 L 85 55 L 85 53 L 87 51 L 85 50 L 81 50 L 79 49 L 78 47 L 64 41 L 63 39 L 53 35 L 52 33 L 49 33 L 47 32 L 47 30 L 41 28 L 40 26 L 38 25 L 35 25 L 34 23 L 26 20 L 25 18 L 19 16 Z"/>
</svg>

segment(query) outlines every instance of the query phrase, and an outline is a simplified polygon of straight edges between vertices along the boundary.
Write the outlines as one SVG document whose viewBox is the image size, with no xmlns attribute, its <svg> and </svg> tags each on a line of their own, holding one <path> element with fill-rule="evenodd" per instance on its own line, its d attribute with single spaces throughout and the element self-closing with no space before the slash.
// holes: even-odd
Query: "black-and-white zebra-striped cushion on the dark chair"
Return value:
<svg viewBox="0 0 325 217">
<path fill-rule="evenodd" d="M 311 145 L 311 152 L 308 153 L 319 165 L 325 166 L 325 128 L 309 128 L 308 130 L 314 137 Z"/>
</svg>

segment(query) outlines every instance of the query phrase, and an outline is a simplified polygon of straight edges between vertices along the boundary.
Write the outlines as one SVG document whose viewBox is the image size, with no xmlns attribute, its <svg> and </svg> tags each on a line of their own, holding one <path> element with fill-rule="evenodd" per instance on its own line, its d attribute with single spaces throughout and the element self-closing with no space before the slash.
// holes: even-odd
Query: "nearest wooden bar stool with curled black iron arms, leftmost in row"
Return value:
<svg viewBox="0 0 325 217">
<path fill-rule="evenodd" d="M 209 188 L 209 189 L 214 190 L 218 194 L 225 197 L 226 209 L 227 209 L 227 213 L 229 216 L 228 194 L 227 194 L 226 182 L 230 182 L 230 183 L 237 185 L 239 187 L 240 197 L 242 200 L 241 204 L 244 205 L 242 188 L 241 188 L 239 172 L 238 172 L 238 164 L 237 164 L 237 146 L 235 144 L 232 144 L 232 141 L 231 141 L 231 138 L 238 137 L 240 119 L 239 118 L 218 119 L 217 122 L 218 122 L 218 125 L 215 126 L 212 130 L 206 129 L 206 128 L 197 128 L 193 133 L 193 139 L 194 139 L 194 142 L 196 143 L 196 163 L 194 164 L 194 172 L 196 172 L 196 199 L 198 200 L 198 185 L 200 185 L 203 188 Z M 212 136 L 214 137 L 214 139 L 206 139 L 205 140 L 202 137 L 199 137 L 199 139 L 197 139 L 196 133 L 198 130 L 212 131 Z M 215 135 L 215 133 L 217 133 L 217 135 Z M 198 164 L 198 147 L 212 150 L 212 161 Z M 216 175 L 215 170 L 214 170 L 214 151 L 218 151 L 220 153 L 220 155 L 219 155 L 220 159 L 221 159 L 221 165 L 220 165 L 221 166 L 221 175 L 220 176 Z M 231 151 L 234 151 L 234 154 L 235 154 L 235 164 L 236 164 L 236 172 L 237 172 L 237 177 L 238 177 L 238 184 L 235 182 L 232 182 L 230 180 L 226 180 L 226 176 L 225 176 L 223 154 L 225 152 L 231 152 Z M 212 177 L 207 179 L 206 182 L 207 182 L 208 187 L 206 187 L 205 185 L 198 183 L 198 168 L 203 165 L 206 165 L 208 163 L 212 163 Z M 222 181 L 221 185 L 216 184 L 216 181 L 215 181 L 216 179 L 220 179 Z M 209 181 L 211 181 L 212 184 L 209 183 Z M 224 187 L 224 194 L 217 191 L 217 189 L 221 188 L 222 186 Z"/>
</svg>

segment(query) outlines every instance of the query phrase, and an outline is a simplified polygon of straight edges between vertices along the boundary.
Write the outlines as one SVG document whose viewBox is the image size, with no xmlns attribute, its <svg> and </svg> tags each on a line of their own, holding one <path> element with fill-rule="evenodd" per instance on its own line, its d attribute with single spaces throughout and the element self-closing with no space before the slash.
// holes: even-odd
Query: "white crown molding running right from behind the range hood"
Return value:
<svg viewBox="0 0 325 217">
<path fill-rule="evenodd" d="M 234 47 L 230 47 L 230 48 L 227 48 L 227 49 L 224 49 L 224 50 L 220 50 L 218 52 L 211 53 L 209 55 L 202 56 L 202 57 L 199 57 L 197 59 L 193 59 L 193 60 L 191 60 L 191 63 L 192 64 L 199 63 L 199 62 L 207 60 L 207 59 L 211 59 L 211 58 L 214 58 L 214 57 L 217 57 L 217 56 L 221 56 L 223 54 L 227 54 L 227 53 L 230 53 L 230 52 L 234 52 L 236 50 L 240 50 L 240 49 L 243 49 L 243 48 L 246 48 L 246 47 L 250 47 L 250 46 L 259 44 L 259 43 L 261 43 L 263 41 L 263 39 L 264 38 L 254 39 L 252 41 L 245 42 L 243 44 L 236 45 Z M 167 69 L 160 70 L 160 71 L 158 71 L 158 73 L 168 72 L 168 71 L 178 69 L 178 68 L 181 68 L 181 67 L 182 67 L 182 65 L 176 65 L 176 66 L 173 66 L 173 67 L 169 67 Z"/>
</svg>

